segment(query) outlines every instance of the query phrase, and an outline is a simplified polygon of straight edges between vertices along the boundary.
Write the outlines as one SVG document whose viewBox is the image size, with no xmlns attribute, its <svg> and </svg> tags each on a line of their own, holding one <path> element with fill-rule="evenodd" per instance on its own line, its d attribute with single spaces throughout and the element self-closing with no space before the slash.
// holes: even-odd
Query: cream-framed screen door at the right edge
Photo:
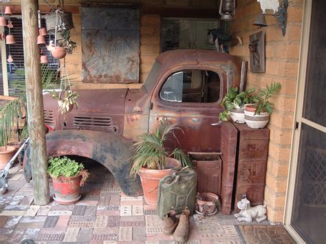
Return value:
<svg viewBox="0 0 326 244">
<path fill-rule="evenodd" d="M 306 243 L 325 243 L 326 1 L 305 1 L 296 130 L 285 223 Z"/>
</svg>

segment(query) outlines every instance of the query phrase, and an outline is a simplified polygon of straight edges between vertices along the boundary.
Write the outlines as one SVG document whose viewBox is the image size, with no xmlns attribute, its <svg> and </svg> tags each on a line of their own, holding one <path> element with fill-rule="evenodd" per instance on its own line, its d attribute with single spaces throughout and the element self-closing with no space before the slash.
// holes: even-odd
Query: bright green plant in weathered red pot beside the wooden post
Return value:
<svg viewBox="0 0 326 244">
<path fill-rule="evenodd" d="M 80 186 L 89 176 L 83 164 L 69 157 L 51 157 L 47 173 L 52 177 L 54 201 L 60 204 L 76 203 L 80 199 Z"/>
</svg>

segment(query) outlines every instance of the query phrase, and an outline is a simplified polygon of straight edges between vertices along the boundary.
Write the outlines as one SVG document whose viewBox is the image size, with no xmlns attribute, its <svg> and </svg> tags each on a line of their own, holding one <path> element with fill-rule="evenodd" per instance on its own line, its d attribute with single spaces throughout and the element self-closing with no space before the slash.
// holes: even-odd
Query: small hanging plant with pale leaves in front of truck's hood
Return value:
<svg viewBox="0 0 326 244">
<path fill-rule="evenodd" d="M 69 113 L 76 107 L 78 109 L 78 102 L 76 99 L 78 98 L 78 93 L 76 91 L 72 91 L 71 89 L 65 89 L 63 92 L 56 93 L 56 91 L 51 91 L 52 98 L 58 100 L 58 110 L 61 114 L 65 115 Z"/>
</svg>

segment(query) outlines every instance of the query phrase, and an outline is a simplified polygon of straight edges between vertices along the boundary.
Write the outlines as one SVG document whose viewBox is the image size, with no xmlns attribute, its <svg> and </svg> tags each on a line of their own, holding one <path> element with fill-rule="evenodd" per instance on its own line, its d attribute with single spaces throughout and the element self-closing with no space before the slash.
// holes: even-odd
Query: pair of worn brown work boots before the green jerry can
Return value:
<svg viewBox="0 0 326 244">
<path fill-rule="evenodd" d="M 169 210 L 164 215 L 164 234 L 173 234 L 173 239 L 177 242 L 188 240 L 189 233 L 189 214 L 188 209 L 182 210 L 180 219 L 175 216 L 175 210 Z M 173 233 L 174 232 L 174 233 Z"/>
</svg>

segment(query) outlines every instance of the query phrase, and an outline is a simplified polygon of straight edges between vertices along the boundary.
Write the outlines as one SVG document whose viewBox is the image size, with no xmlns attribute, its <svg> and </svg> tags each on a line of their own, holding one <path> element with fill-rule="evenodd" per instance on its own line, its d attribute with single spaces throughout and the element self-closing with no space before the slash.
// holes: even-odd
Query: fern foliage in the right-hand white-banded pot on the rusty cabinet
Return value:
<svg viewBox="0 0 326 244">
<path fill-rule="evenodd" d="M 260 89 L 258 94 L 259 100 L 253 105 L 256 108 L 254 114 L 261 114 L 262 112 L 271 114 L 273 112 L 273 105 L 269 100 L 281 88 L 281 83 L 273 82 L 270 86 L 266 85 L 265 89 Z"/>
</svg>

